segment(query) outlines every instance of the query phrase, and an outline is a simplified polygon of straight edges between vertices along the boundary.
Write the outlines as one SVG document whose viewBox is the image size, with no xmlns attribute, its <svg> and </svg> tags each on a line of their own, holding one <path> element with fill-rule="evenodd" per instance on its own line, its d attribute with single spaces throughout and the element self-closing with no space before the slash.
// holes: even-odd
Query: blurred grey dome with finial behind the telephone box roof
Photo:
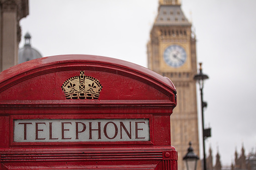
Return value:
<svg viewBox="0 0 256 170">
<path fill-rule="evenodd" d="M 31 47 L 30 34 L 26 33 L 24 38 L 25 38 L 24 47 L 19 49 L 19 64 L 42 57 L 42 55 L 36 49 Z"/>
</svg>

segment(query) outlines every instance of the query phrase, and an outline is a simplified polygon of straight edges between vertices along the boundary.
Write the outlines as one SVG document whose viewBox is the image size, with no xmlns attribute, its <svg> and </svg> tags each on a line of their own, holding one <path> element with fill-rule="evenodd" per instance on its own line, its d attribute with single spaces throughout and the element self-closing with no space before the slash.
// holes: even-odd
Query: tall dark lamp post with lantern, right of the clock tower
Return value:
<svg viewBox="0 0 256 170">
<path fill-rule="evenodd" d="M 203 74 L 202 71 L 202 63 L 199 63 L 200 70 L 197 75 L 194 76 L 194 80 L 198 81 L 199 88 L 201 92 L 201 109 L 202 109 L 202 127 L 203 127 L 203 148 L 204 148 L 204 170 L 206 170 L 206 160 L 205 160 L 205 138 L 210 137 L 210 128 L 204 129 L 204 107 L 207 106 L 207 103 L 203 101 L 203 88 L 204 88 L 204 80 L 208 79 L 209 77 L 206 74 Z"/>
</svg>

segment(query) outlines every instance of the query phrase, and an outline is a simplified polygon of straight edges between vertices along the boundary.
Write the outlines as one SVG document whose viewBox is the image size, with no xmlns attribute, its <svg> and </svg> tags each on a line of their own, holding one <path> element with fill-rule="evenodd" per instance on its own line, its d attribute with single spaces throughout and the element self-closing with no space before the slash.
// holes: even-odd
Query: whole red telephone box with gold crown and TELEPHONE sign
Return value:
<svg viewBox="0 0 256 170">
<path fill-rule="evenodd" d="M 0 73 L 1 169 L 177 169 L 176 89 L 122 60 L 62 55 Z"/>
</svg>

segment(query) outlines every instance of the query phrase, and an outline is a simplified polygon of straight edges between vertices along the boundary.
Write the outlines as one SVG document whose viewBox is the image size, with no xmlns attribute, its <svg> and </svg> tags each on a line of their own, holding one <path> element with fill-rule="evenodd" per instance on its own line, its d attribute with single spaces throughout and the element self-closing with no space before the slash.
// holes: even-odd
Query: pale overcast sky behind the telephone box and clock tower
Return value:
<svg viewBox="0 0 256 170">
<path fill-rule="evenodd" d="M 146 43 L 158 0 L 29 3 L 30 14 L 20 23 L 22 34 L 31 34 L 32 47 L 44 57 L 90 54 L 146 67 Z M 211 146 L 215 157 L 218 149 L 222 165 L 234 161 L 235 148 L 240 154 L 242 144 L 246 154 L 256 150 L 255 7 L 254 0 L 182 1 L 196 33 L 198 62 L 203 62 L 203 72 L 210 77 L 204 88 L 205 125 L 212 128 L 207 153 Z"/>
</svg>

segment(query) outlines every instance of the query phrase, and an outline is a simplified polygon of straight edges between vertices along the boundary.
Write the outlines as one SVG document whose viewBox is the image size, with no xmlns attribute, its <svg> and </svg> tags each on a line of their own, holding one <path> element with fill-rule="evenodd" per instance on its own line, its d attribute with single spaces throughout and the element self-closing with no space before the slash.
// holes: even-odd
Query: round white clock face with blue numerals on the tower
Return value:
<svg viewBox="0 0 256 170">
<path fill-rule="evenodd" d="M 187 54 L 181 46 L 172 45 L 164 50 L 163 58 L 169 66 L 181 67 L 187 60 Z"/>
</svg>

